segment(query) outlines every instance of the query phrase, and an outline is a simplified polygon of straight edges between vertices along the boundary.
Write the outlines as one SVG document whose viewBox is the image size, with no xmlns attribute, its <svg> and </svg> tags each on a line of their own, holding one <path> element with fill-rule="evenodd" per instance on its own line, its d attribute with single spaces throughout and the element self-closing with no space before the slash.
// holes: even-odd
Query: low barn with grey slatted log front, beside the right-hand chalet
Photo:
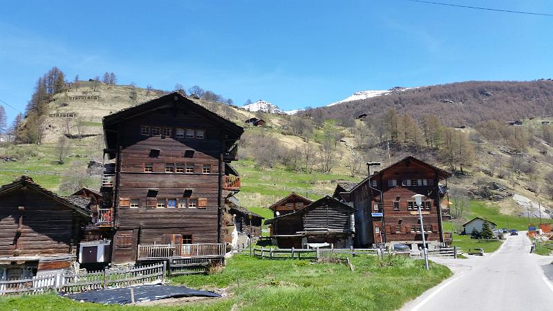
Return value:
<svg viewBox="0 0 553 311">
<path fill-rule="evenodd" d="M 271 236 L 281 248 L 303 248 L 309 244 L 328 243 L 334 247 L 353 245 L 355 209 L 330 196 L 309 205 L 265 220 Z"/>
</svg>

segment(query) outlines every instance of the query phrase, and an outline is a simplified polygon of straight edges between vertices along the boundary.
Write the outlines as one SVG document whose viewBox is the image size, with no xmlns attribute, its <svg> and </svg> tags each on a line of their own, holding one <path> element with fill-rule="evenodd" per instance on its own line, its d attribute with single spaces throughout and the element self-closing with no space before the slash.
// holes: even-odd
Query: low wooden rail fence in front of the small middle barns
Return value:
<svg viewBox="0 0 553 311">
<path fill-rule="evenodd" d="M 252 255 L 259 257 L 259 258 L 268 258 L 268 259 L 319 259 L 321 257 L 328 257 L 332 256 L 334 254 L 350 254 L 352 256 L 357 256 L 361 254 L 366 255 L 378 255 L 382 256 L 384 252 L 382 249 L 377 248 L 359 248 L 354 249 L 346 248 L 346 249 L 338 249 L 338 248 L 312 248 L 312 249 L 304 249 L 304 248 L 289 248 L 289 249 L 281 249 L 281 248 L 252 248 Z"/>
</svg>

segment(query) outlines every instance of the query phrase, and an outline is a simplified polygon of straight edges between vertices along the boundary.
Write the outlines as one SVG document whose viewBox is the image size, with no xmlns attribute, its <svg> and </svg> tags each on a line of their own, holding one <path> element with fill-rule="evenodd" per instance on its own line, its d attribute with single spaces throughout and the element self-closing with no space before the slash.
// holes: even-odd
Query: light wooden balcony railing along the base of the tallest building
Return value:
<svg viewBox="0 0 553 311">
<path fill-rule="evenodd" d="M 225 251 L 225 243 L 138 245 L 136 260 L 224 258 Z"/>
</svg>

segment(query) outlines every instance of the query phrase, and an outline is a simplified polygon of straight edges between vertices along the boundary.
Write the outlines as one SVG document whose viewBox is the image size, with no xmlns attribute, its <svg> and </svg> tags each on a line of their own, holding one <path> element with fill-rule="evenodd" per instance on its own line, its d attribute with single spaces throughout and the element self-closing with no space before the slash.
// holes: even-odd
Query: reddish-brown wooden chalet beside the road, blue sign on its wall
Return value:
<svg viewBox="0 0 553 311">
<path fill-rule="evenodd" d="M 449 176 L 447 171 L 408 156 L 351 189 L 339 185 L 335 197 L 357 209 L 355 244 L 404 243 L 415 247 L 422 243 L 422 231 L 431 244 L 450 243 L 442 229 L 442 215 L 449 214 L 445 210 L 449 207 L 440 204 L 445 190 L 439 185 Z M 420 227 L 417 205 L 412 198 L 415 194 L 424 195 L 424 228 Z"/>
</svg>

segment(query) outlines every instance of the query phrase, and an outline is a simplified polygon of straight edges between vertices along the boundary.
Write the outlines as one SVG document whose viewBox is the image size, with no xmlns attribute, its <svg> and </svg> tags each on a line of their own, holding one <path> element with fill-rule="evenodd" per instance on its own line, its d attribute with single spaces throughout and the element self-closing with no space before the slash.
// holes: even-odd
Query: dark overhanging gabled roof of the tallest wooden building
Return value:
<svg viewBox="0 0 553 311">
<path fill-rule="evenodd" d="M 182 94 L 178 93 L 178 91 L 174 91 L 167 95 L 160 96 L 154 100 L 150 100 L 149 102 L 139 104 L 138 106 L 123 109 L 122 111 L 112 113 L 111 115 L 106 115 L 102 120 L 102 123 L 104 125 L 106 148 L 115 148 L 115 137 L 117 135 L 115 131 L 115 125 L 119 122 L 129 120 L 133 117 L 137 117 L 138 115 L 144 115 L 146 113 L 149 113 L 150 111 L 175 105 L 184 106 L 186 109 L 194 111 L 194 113 L 205 117 L 207 120 L 213 123 L 221 124 L 221 128 L 224 129 L 225 133 L 227 133 L 228 135 L 228 140 L 238 140 L 244 132 L 244 129 L 241 126 L 238 126 L 238 124 L 235 124 L 225 117 L 222 117 L 221 115 L 210 111 L 204 106 L 198 104 L 198 102 L 196 102 L 195 100 L 191 100 L 189 97 L 185 97 Z"/>
</svg>

